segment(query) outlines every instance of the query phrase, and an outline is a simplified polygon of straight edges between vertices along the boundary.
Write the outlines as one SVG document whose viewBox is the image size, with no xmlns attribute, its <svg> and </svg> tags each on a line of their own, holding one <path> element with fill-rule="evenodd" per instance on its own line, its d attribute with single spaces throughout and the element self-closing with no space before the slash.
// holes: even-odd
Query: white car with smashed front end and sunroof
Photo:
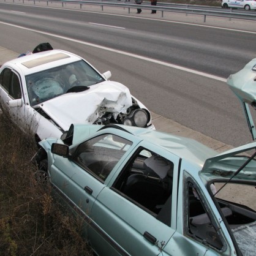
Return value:
<svg viewBox="0 0 256 256">
<path fill-rule="evenodd" d="M 63 50 L 21 56 L 0 69 L 0 108 L 37 142 L 61 137 L 70 124 L 154 129 L 148 108 L 110 77 Z"/>
</svg>

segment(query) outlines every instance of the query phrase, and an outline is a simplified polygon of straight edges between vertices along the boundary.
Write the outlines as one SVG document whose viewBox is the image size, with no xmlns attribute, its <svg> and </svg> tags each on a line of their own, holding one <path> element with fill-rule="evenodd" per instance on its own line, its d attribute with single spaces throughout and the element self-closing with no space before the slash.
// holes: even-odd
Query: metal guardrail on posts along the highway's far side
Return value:
<svg viewBox="0 0 256 256">
<path fill-rule="evenodd" d="M 2 2 L 2 0 L 0 0 Z M 20 0 L 16 0 L 17 2 L 20 2 Z M 24 1 L 22 0 L 23 4 Z M 143 10 L 157 10 L 162 13 L 162 17 L 164 17 L 164 12 L 176 12 L 176 13 L 186 13 L 186 14 L 194 14 L 194 15 L 202 15 L 204 17 L 204 22 L 206 21 L 206 16 L 211 17 L 225 17 L 225 18 L 236 18 L 236 19 L 243 19 L 243 20 L 255 20 L 256 21 L 256 14 L 252 13 L 239 13 L 239 12 L 232 12 L 232 9 L 221 9 L 221 10 L 206 10 L 206 9 L 200 9 L 200 7 L 196 6 L 196 8 L 191 8 L 190 6 L 184 6 L 184 7 L 176 7 L 176 6 L 150 6 L 148 4 L 127 4 L 126 2 L 105 2 L 105 1 L 72 1 L 72 0 L 28 0 L 33 1 L 34 4 L 36 2 L 47 2 L 47 6 L 49 3 L 60 3 L 62 7 L 64 7 L 64 4 L 79 4 L 80 9 L 83 5 L 91 5 L 91 6 L 100 6 L 102 11 L 104 10 L 104 7 L 121 7 L 128 10 L 128 13 L 130 13 L 130 9 L 143 9 Z M 132 1 L 132 0 L 131 0 Z M 6 0 L 4 0 L 6 2 Z M 12 2 L 15 2 L 15 0 L 12 0 Z"/>
</svg>

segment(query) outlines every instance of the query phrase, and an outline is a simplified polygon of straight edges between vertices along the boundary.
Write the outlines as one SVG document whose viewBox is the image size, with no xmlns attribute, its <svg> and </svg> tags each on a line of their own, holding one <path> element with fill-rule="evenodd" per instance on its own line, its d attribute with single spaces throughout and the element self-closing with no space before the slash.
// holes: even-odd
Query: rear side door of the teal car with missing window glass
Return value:
<svg viewBox="0 0 256 256">
<path fill-rule="evenodd" d="M 121 173 L 98 195 L 91 211 L 97 228 L 88 230 L 97 254 L 170 255 L 165 245 L 175 233 L 173 198 L 176 198 L 179 158 L 167 159 L 157 149 L 144 143 L 138 145 Z"/>
</svg>

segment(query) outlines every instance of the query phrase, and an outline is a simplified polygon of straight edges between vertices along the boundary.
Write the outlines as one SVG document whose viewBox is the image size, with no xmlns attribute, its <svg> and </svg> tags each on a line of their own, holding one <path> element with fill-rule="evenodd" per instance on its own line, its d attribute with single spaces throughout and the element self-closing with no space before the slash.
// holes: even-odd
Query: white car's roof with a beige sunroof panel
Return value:
<svg viewBox="0 0 256 256">
<path fill-rule="evenodd" d="M 4 64 L 23 71 L 24 75 L 36 73 L 45 69 L 79 61 L 81 58 L 73 53 L 63 50 L 49 50 L 32 53 L 17 59 L 12 59 Z"/>
</svg>

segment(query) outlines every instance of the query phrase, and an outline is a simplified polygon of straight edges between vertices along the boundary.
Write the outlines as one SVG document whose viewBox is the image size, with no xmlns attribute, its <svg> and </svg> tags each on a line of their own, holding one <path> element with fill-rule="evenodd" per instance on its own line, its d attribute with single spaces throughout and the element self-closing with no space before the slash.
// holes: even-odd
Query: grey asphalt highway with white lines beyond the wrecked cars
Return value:
<svg viewBox="0 0 256 256">
<path fill-rule="evenodd" d="M 165 118 L 229 145 L 252 140 L 238 100 L 224 81 L 254 58 L 255 24 L 243 21 L 246 30 L 253 31 L 246 32 L 241 30 L 242 21 L 222 20 L 222 27 L 229 29 L 219 29 L 210 21 L 195 25 L 201 22 L 199 17 L 194 24 L 170 23 L 148 14 L 134 17 L 135 10 L 131 15 L 127 10 L 106 15 L 92 8 L 90 12 L 13 4 L 0 8 L 0 21 L 8 23 L 0 26 L 1 35 L 6 35 L 1 37 L 2 47 L 23 53 L 50 42 L 54 48 L 83 56 L 100 72 L 111 70 L 112 80 L 127 85 Z M 215 26 L 219 23 L 215 21 Z"/>
</svg>

